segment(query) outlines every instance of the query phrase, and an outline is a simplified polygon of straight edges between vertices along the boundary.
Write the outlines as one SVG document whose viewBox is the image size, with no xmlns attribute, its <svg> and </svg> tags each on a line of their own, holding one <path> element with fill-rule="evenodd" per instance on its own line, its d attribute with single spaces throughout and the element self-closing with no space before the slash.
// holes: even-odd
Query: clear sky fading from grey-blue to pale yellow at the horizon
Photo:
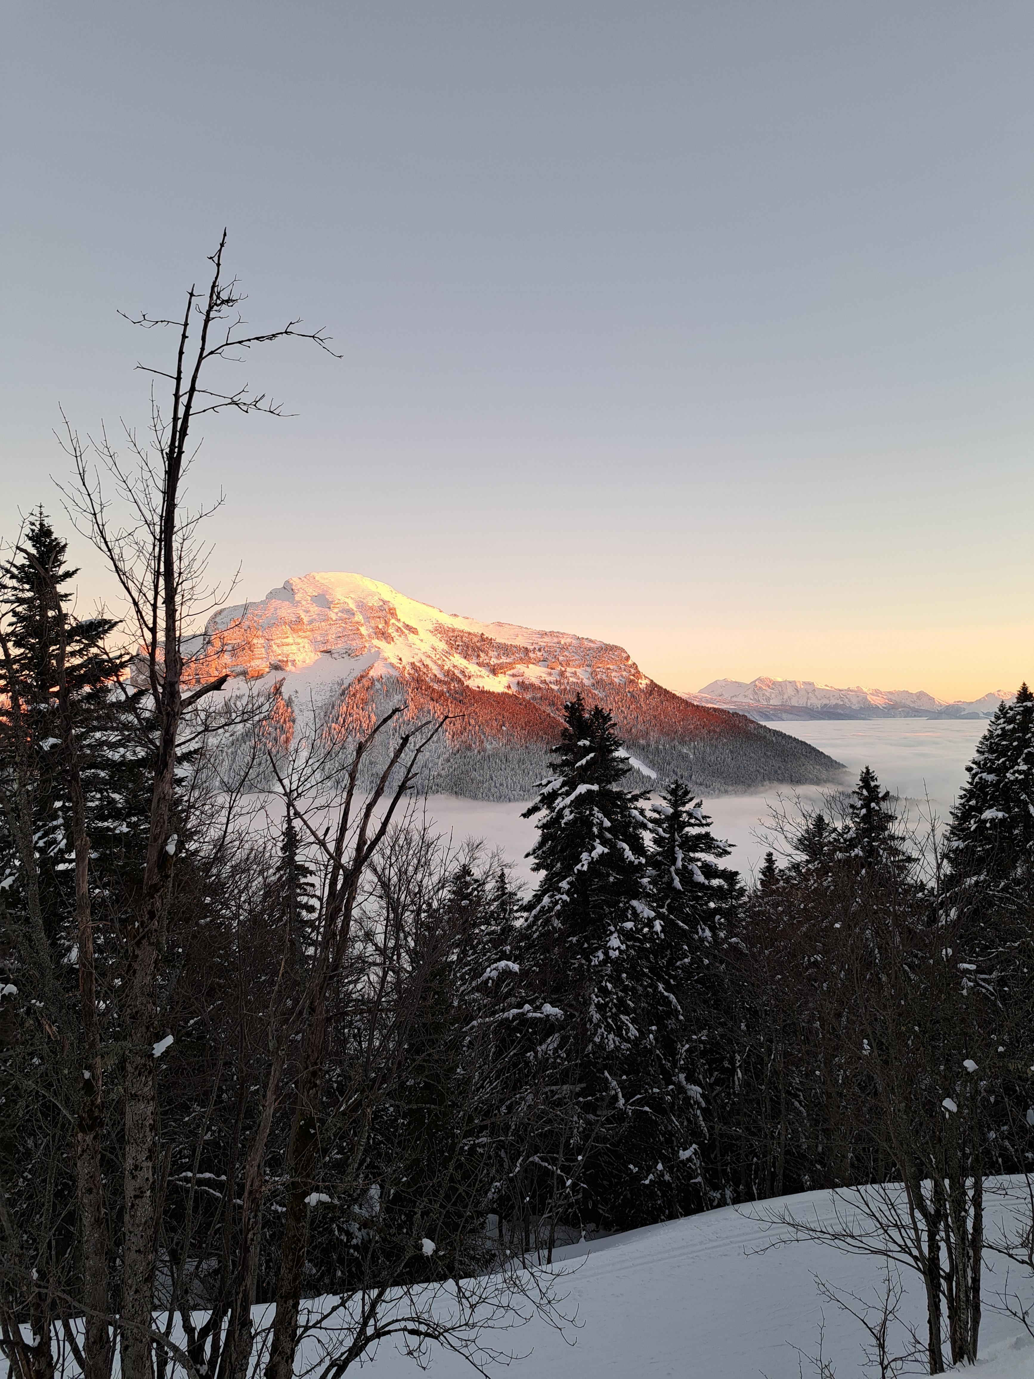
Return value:
<svg viewBox="0 0 1034 1379">
<path fill-rule="evenodd" d="M 192 495 L 234 601 L 349 570 L 673 690 L 1034 676 L 1034 7 L 0 0 L 0 534 L 146 423 L 223 226 Z M 113 601 L 73 536 L 80 603 Z"/>
</svg>

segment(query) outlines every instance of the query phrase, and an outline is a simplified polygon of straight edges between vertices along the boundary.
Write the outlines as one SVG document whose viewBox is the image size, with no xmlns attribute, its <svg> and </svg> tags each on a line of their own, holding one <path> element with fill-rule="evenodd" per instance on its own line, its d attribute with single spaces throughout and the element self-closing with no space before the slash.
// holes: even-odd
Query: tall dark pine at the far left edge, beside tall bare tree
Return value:
<svg viewBox="0 0 1034 1379">
<path fill-rule="evenodd" d="M 69 607 L 74 575 L 66 543 L 43 510 L 34 512 L 14 554 L 0 567 L 0 963 L 6 969 L 0 982 L 18 993 L 14 1009 L 7 1003 L 8 1037 L 0 1051 L 6 1088 L 0 1178 L 30 1262 L 33 1249 L 40 1249 L 32 1287 L 51 1296 L 54 1289 L 77 1287 L 69 1270 L 81 1265 L 76 1251 L 87 1248 L 81 1211 L 90 1214 L 94 1282 L 106 1265 L 103 1231 L 95 1229 L 103 1215 L 98 1045 L 101 1040 L 117 1044 L 113 997 L 121 900 L 130 859 L 145 837 L 139 825 L 148 803 L 135 724 L 116 678 L 123 663 L 106 651 L 116 625 L 102 616 L 74 616 Z M 62 703 L 70 717 L 88 840 L 91 923 L 85 934 L 92 961 L 83 969 L 91 989 L 88 1041 L 80 1004 L 73 778 Z M 97 974 L 95 986 L 91 974 Z M 84 1078 L 87 1067 L 97 1069 L 97 1076 L 87 1071 Z M 43 1117 L 41 1105 L 63 1106 L 69 1114 Z M 77 1204 L 72 1176 L 77 1167 L 91 1174 L 90 1207 Z M 43 1324 L 45 1316 L 36 1320 Z M 47 1335 L 45 1325 L 40 1335 Z"/>
</svg>

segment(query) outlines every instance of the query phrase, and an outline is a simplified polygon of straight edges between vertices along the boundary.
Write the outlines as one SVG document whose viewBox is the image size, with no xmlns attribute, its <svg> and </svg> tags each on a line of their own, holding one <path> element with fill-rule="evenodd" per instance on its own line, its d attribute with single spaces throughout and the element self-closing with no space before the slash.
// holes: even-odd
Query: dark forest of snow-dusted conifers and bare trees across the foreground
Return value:
<svg viewBox="0 0 1034 1379">
<path fill-rule="evenodd" d="M 855 1194 L 826 1236 L 921 1278 L 931 1372 L 975 1358 L 986 1183 L 1031 1156 L 1034 696 L 944 832 L 866 768 L 790 808 L 750 881 L 689 783 L 633 789 L 575 696 L 516 885 L 422 814 L 444 714 L 285 745 L 269 701 L 192 678 L 218 594 L 190 426 L 276 411 L 208 371 L 303 334 L 243 332 L 221 252 L 149 443 L 66 437 L 125 623 L 76 614 L 43 510 L 0 570 L 12 1373 L 336 1379 L 387 1340 L 484 1369 L 523 1320 L 564 1325 L 558 1245 L 818 1187 Z M 1030 1265 L 1030 1238 L 993 1244 Z"/>
</svg>

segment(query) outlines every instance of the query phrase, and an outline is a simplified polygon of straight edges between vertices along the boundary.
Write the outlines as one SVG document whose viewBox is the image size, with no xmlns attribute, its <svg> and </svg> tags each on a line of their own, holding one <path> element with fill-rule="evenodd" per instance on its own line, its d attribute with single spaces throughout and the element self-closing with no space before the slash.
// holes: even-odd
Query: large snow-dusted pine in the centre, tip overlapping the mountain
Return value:
<svg viewBox="0 0 1034 1379">
<path fill-rule="evenodd" d="M 580 695 L 553 750 L 556 774 L 525 815 L 540 816 L 531 852 L 540 881 L 518 945 L 524 980 L 562 1012 L 547 1058 L 571 1092 L 569 1145 L 543 1158 L 567 1154 L 582 1220 L 640 1225 L 676 1209 L 678 1151 L 658 1040 L 671 1005 L 653 961 L 645 797 L 625 787 L 609 713 L 586 710 Z"/>
</svg>

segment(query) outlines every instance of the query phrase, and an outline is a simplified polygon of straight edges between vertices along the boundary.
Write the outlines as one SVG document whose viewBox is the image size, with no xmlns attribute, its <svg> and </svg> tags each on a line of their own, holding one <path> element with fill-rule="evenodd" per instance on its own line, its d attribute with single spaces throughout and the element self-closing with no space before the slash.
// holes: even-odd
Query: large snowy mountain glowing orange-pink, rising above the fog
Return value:
<svg viewBox="0 0 1034 1379">
<path fill-rule="evenodd" d="M 680 775 L 713 794 L 840 775 L 809 743 L 665 690 L 622 647 L 445 614 L 363 575 L 287 579 L 219 610 L 185 651 L 193 683 L 229 674 L 230 692 L 269 695 L 266 738 L 281 752 L 313 728 L 354 736 L 396 705 L 447 717 L 426 778 L 441 793 L 529 798 L 579 691 L 611 710 L 642 785 Z"/>
</svg>

